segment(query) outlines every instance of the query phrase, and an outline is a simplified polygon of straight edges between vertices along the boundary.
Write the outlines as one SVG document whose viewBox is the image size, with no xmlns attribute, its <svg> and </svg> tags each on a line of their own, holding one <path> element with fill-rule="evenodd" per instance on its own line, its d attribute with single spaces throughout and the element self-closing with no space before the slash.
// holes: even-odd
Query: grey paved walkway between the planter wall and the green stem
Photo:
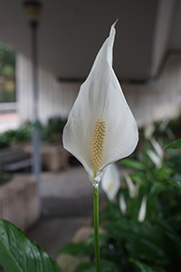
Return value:
<svg viewBox="0 0 181 272">
<path fill-rule="evenodd" d="M 44 172 L 40 182 L 42 218 L 26 236 L 40 244 L 53 258 L 56 249 L 71 241 L 76 230 L 90 221 L 93 187 L 81 167 L 62 172 Z M 103 195 L 100 189 L 100 199 Z"/>
</svg>

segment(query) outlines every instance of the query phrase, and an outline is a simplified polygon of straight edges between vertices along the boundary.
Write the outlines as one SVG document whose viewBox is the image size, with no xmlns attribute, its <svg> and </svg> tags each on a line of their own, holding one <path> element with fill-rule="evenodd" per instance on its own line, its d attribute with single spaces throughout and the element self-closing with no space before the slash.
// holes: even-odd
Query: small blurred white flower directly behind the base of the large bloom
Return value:
<svg viewBox="0 0 181 272">
<path fill-rule="evenodd" d="M 110 164 L 105 170 L 101 180 L 101 187 L 110 200 L 116 197 L 120 187 L 119 170 L 116 164 Z"/>
</svg>

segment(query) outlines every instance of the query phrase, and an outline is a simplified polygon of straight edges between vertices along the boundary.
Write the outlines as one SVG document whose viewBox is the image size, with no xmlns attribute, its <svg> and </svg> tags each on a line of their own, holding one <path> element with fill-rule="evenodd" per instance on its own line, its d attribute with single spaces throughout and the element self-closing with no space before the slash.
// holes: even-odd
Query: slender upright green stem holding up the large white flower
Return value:
<svg viewBox="0 0 181 272">
<path fill-rule="evenodd" d="M 94 216 L 94 240 L 95 240 L 96 272 L 100 272 L 99 186 L 98 186 L 98 188 L 94 187 L 93 216 Z"/>
</svg>

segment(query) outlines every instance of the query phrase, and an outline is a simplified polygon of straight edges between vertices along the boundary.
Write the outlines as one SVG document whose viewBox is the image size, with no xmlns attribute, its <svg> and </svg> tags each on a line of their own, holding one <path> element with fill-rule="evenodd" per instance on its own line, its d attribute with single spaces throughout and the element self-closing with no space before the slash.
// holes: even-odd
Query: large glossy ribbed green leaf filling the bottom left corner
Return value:
<svg viewBox="0 0 181 272">
<path fill-rule="evenodd" d="M 22 229 L 4 219 L 0 219 L 0 265 L 5 272 L 62 271 L 43 248 L 25 238 Z"/>
</svg>

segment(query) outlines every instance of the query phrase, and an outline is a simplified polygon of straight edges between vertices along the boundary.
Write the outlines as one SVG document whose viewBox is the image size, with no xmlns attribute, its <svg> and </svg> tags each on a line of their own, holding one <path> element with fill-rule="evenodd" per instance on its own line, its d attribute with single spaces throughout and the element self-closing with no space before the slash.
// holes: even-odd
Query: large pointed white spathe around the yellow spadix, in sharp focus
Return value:
<svg viewBox="0 0 181 272">
<path fill-rule="evenodd" d="M 81 85 L 62 135 L 64 148 L 81 161 L 94 187 L 98 186 L 103 170 L 129 156 L 138 143 L 137 123 L 112 69 L 115 32 L 113 24 L 109 38 L 100 48 L 88 78 Z M 105 121 L 106 128 L 101 165 L 95 170 L 90 151 L 98 119 Z"/>
</svg>

